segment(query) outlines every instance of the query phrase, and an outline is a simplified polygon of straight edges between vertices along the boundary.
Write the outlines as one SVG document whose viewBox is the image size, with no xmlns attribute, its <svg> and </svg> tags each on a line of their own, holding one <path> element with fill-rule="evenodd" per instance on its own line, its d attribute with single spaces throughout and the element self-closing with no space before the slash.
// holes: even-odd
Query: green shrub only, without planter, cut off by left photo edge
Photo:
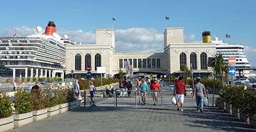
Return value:
<svg viewBox="0 0 256 132">
<path fill-rule="evenodd" d="M 10 117 L 12 115 L 12 103 L 8 96 L 1 96 L 0 92 L 0 119 Z"/>
</svg>

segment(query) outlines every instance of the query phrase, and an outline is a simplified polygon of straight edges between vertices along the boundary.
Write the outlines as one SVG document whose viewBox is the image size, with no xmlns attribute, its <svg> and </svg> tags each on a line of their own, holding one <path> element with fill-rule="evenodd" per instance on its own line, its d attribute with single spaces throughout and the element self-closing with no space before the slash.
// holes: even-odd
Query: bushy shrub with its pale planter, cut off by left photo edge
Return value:
<svg viewBox="0 0 256 132">
<path fill-rule="evenodd" d="M 0 131 L 8 131 L 14 127 L 12 103 L 8 99 L 8 96 L 1 96 L 0 94 Z"/>
</svg>

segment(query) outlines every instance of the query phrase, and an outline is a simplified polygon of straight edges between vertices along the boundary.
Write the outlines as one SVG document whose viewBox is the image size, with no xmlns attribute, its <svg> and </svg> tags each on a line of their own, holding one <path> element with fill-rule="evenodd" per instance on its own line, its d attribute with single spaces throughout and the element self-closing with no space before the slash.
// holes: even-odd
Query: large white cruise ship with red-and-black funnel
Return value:
<svg viewBox="0 0 256 132">
<path fill-rule="evenodd" d="M 57 34 L 54 22 L 49 21 L 44 33 L 38 26 L 36 34 L 15 35 L 0 38 L 1 77 L 64 77 L 66 46 L 76 43 Z"/>
</svg>

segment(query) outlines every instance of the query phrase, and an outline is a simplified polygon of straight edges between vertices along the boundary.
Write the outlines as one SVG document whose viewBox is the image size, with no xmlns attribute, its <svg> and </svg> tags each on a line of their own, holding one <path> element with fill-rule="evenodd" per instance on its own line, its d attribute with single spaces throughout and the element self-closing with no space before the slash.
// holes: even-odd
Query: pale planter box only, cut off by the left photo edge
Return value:
<svg viewBox="0 0 256 132">
<path fill-rule="evenodd" d="M 12 130 L 13 128 L 13 116 L 0 119 L 0 132 Z"/>
</svg>

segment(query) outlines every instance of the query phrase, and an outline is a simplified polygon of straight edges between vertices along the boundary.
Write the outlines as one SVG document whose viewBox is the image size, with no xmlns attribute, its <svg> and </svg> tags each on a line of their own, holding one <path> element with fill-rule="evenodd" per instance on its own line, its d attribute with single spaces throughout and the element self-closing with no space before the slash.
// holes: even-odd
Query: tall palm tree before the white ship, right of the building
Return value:
<svg viewBox="0 0 256 132">
<path fill-rule="evenodd" d="M 222 85 L 224 85 L 225 77 L 228 75 L 228 64 L 223 62 L 223 56 L 221 54 L 214 55 L 213 73 L 214 76 L 222 82 Z"/>
</svg>

